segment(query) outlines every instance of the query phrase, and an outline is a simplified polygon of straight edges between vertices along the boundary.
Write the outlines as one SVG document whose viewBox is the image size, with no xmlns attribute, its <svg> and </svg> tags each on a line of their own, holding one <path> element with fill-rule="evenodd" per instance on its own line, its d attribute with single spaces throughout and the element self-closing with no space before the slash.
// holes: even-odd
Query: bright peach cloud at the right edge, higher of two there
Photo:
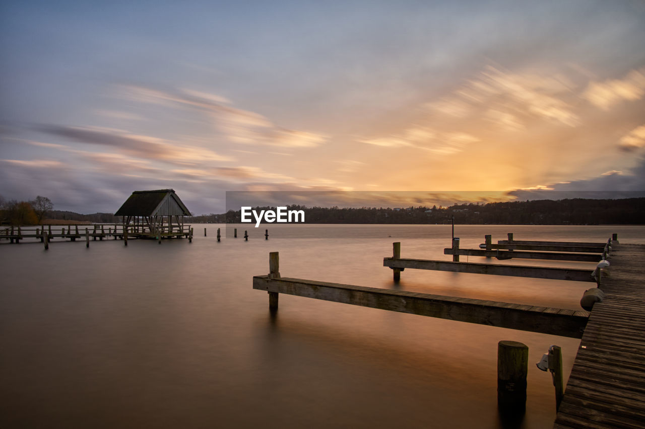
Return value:
<svg viewBox="0 0 645 429">
<path fill-rule="evenodd" d="M 594 106 L 609 110 L 624 100 L 640 100 L 645 95 L 645 68 L 631 70 L 623 79 L 590 82 L 582 94 Z"/>
</svg>

